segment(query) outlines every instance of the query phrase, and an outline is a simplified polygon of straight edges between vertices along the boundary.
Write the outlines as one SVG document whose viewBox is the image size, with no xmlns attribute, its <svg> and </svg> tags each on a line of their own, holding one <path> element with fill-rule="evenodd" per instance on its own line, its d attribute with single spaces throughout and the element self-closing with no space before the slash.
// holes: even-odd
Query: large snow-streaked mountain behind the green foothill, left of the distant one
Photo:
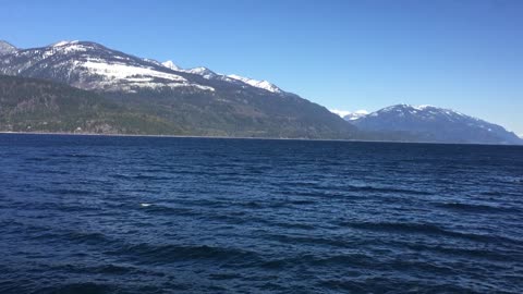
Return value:
<svg viewBox="0 0 523 294">
<path fill-rule="evenodd" d="M 356 134 L 326 108 L 268 82 L 183 70 L 90 41 L 2 52 L 0 74 L 88 90 L 188 135 L 346 139 Z"/>
</svg>

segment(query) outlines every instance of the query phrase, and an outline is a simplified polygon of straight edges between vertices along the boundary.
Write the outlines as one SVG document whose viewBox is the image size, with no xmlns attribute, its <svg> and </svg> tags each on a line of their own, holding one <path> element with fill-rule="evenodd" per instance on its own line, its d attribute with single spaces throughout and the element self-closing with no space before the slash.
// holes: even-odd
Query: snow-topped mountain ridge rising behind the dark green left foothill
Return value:
<svg viewBox="0 0 523 294">
<path fill-rule="evenodd" d="M 204 66 L 181 69 L 172 61 L 141 58 L 93 41 L 59 41 L 28 49 L 0 41 L 2 74 L 92 91 L 123 112 L 154 118 L 185 135 L 521 143 L 499 125 L 430 106 L 399 105 L 368 114 L 358 111 L 343 120 L 267 81 L 220 74 Z M 427 115 L 414 115 L 417 112 L 438 112 L 440 124 L 435 125 Z M 156 131 L 151 127 L 148 132 Z"/>
</svg>

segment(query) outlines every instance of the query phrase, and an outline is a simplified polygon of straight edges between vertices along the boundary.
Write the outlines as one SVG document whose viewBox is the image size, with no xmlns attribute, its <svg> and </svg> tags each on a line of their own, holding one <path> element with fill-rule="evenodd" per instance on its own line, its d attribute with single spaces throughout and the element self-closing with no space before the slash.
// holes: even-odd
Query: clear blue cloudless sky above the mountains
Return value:
<svg viewBox="0 0 523 294">
<path fill-rule="evenodd" d="M 328 108 L 434 105 L 523 134 L 523 1 L 1 1 L 0 39 L 62 39 L 268 79 Z"/>
</svg>

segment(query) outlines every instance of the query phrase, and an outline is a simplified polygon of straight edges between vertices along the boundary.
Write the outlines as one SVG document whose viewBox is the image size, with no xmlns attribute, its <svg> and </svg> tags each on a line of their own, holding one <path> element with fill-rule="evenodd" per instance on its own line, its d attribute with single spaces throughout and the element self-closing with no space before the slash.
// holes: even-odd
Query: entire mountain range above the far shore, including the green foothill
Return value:
<svg viewBox="0 0 523 294">
<path fill-rule="evenodd" d="M 29 49 L 0 41 L 0 131 L 521 143 L 500 126 L 428 107 L 394 106 L 345 121 L 267 81 L 90 41 Z"/>
</svg>

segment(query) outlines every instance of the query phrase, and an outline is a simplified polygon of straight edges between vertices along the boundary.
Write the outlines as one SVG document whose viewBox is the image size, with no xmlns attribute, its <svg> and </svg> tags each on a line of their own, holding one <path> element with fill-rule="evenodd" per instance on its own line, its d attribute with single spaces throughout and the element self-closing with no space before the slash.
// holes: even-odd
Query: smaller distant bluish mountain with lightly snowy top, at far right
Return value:
<svg viewBox="0 0 523 294">
<path fill-rule="evenodd" d="M 397 105 L 362 118 L 346 120 L 366 132 L 411 134 L 421 142 L 522 144 L 502 126 L 433 106 Z"/>
</svg>

